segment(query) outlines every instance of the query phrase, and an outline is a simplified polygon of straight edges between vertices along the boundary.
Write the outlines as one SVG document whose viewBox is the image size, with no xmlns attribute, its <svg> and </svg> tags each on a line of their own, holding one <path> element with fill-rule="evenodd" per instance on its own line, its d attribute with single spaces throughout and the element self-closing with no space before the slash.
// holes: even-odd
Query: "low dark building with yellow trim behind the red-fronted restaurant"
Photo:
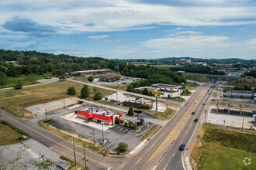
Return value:
<svg viewBox="0 0 256 170">
<path fill-rule="evenodd" d="M 123 105 L 126 107 L 136 107 L 138 109 L 151 109 L 153 108 L 154 102 L 144 100 L 126 100 Z"/>
</svg>

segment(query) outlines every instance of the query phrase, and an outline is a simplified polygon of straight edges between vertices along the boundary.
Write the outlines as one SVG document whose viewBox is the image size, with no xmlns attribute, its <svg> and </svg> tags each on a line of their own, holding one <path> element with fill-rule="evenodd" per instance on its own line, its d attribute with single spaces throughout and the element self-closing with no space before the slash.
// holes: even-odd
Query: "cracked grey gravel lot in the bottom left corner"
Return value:
<svg viewBox="0 0 256 170">
<path fill-rule="evenodd" d="M 60 158 L 54 151 L 29 139 L 18 144 L 0 147 L 1 169 L 56 169 L 55 165 L 69 168 L 69 164 Z"/>
</svg>

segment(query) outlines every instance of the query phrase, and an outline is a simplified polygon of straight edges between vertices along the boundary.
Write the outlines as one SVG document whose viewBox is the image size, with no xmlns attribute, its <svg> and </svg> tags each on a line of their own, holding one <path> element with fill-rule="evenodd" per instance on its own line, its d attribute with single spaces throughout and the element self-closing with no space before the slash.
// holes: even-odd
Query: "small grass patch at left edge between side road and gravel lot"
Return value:
<svg viewBox="0 0 256 170">
<path fill-rule="evenodd" d="M 6 121 L 5 121 L 6 122 Z M 22 134 L 24 132 L 20 131 L 19 129 L 13 127 L 11 124 L 8 122 L 3 124 L 4 122 L 0 122 L 0 146 L 2 145 L 10 145 L 10 144 L 16 144 L 20 141 L 18 138 L 22 138 Z M 21 132 L 21 133 L 19 133 Z M 29 138 L 29 135 L 26 135 Z"/>
</svg>

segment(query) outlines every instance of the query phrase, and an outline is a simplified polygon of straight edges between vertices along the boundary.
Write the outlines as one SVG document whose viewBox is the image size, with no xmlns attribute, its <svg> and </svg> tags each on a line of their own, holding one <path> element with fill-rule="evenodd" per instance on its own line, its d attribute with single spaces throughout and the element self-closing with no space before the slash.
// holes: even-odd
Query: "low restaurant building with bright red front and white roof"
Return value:
<svg viewBox="0 0 256 170">
<path fill-rule="evenodd" d="M 94 121 L 97 123 L 103 122 L 107 125 L 115 124 L 116 118 L 121 117 L 120 112 L 113 110 L 102 109 L 99 107 L 86 107 L 77 111 L 77 117 L 88 121 Z"/>
</svg>

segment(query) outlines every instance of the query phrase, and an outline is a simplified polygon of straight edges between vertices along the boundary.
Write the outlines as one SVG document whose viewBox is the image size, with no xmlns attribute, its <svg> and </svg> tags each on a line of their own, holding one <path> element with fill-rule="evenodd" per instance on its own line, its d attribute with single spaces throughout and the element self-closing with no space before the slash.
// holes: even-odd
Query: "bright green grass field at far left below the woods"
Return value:
<svg viewBox="0 0 256 170">
<path fill-rule="evenodd" d="M 30 85 L 30 84 L 36 84 L 39 83 L 37 80 L 44 79 L 47 76 L 53 76 L 52 73 L 45 73 L 43 75 L 37 75 L 37 74 L 29 74 L 29 75 L 20 75 L 18 77 L 9 77 L 7 76 L 7 82 L 5 85 L 1 85 L 0 89 L 6 88 L 6 87 L 13 87 L 17 81 L 21 81 L 22 85 Z"/>
</svg>

